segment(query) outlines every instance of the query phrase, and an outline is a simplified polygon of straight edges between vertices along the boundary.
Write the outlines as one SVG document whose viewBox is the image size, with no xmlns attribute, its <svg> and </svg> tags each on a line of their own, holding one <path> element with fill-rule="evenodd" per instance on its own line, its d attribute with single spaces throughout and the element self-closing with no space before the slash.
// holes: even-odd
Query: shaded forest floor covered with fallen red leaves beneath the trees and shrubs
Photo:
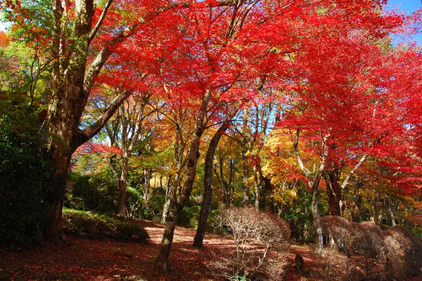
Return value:
<svg viewBox="0 0 422 281">
<path fill-rule="evenodd" d="M 24 249 L 0 248 L 0 280 L 215 280 L 208 264 L 213 262 L 214 253 L 231 247 L 230 237 L 213 233 L 205 235 L 203 248 L 192 246 L 195 230 L 176 227 L 170 252 L 171 274 L 153 270 L 163 225 L 139 220 L 147 230 L 150 239 L 145 243 L 97 241 L 68 237 L 66 245 L 44 244 Z M 305 263 L 303 276 L 294 268 L 294 258 L 300 254 Z M 340 258 L 339 258 L 340 257 Z M 327 260 L 330 265 L 327 266 Z M 320 258 L 312 246 L 291 245 L 287 260 L 286 280 L 336 280 L 345 272 L 344 256 L 329 255 Z M 361 260 L 357 258 L 357 263 Z M 379 266 L 378 266 L 379 267 Z M 340 271 L 339 271 L 340 270 Z M 355 270 L 355 271 L 353 271 Z M 361 267 L 350 272 L 362 274 Z M 303 272 L 302 272 L 303 273 Z M 348 279 L 352 279 L 350 274 Z M 355 278 L 353 278 L 355 279 Z M 414 278 L 412 281 L 422 281 Z"/>
</svg>

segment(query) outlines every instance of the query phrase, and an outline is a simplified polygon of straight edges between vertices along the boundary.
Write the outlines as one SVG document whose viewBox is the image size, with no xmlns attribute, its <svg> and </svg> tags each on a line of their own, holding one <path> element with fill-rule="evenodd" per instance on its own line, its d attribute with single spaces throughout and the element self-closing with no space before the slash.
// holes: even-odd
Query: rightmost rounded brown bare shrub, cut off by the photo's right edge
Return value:
<svg viewBox="0 0 422 281">
<path fill-rule="evenodd" d="M 422 243 L 420 238 L 403 227 L 384 230 L 387 249 L 385 271 L 394 279 L 404 279 L 420 274 L 422 267 Z"/>
</svg>

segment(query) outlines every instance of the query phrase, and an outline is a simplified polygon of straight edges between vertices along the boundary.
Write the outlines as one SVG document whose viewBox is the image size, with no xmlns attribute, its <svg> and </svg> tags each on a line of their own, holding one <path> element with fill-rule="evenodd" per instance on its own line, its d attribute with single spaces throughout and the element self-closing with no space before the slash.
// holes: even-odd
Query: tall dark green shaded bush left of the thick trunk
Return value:
<svg viewBox="0 0 422 281">
<path fill-rule="evenodd" d="M 38 112 L 25 103 L 2 101 L 0 110 L 0 243 L 40 241 L 53 188 L 46 135 Z"/>
</svg>

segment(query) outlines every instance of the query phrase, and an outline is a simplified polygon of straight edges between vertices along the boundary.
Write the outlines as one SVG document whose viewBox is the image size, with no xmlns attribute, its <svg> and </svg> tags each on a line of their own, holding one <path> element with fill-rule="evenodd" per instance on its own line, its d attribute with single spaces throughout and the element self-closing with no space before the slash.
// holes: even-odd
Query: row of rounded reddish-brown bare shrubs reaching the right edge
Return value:
<svg viewBox="0 0 422 281">
<path fill-rule="evenodd" d="M 322 219 L 325 235 L 331 235 L 348 257 L 362 255 L 366 274 L 375 277 L 374 268 L 385 262 L 385 273 L 394 279 L 417 275 L 422 269 L 422 242 L 409 230 L 392 227 L 382 231 L 372 222 L 349 222 L 338 216 Z"/>
</svg>

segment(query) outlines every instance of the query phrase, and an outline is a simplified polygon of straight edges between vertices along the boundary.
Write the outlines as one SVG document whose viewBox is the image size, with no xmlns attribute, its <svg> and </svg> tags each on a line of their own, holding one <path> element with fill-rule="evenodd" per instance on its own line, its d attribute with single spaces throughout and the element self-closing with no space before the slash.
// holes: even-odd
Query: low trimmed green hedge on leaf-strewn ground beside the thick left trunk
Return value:
<svg viewBox="0 0 422 281">
<path fill-rule="evenodd" d="M 145 229 L 135 223 L 72 209 L 63 210 L 62 225 L 65 233 L 82 238 L 135 242 L 149 238 Z"/>
</svg>

